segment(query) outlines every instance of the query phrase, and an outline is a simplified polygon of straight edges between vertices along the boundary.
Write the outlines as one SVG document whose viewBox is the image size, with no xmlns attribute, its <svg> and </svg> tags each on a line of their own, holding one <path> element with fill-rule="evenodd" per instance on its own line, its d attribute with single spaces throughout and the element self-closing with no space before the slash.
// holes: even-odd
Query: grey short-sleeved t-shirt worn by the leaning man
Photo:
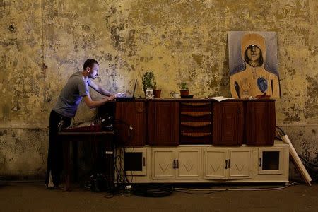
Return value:
<svg viewBox="0 0 318 212">
<path fill-rule="evenodd" d="M 77 107 L 83 96 L 89 95 L 89 85 L 90 79 L 84 80 L 81 71 L 73 73 L 63 90 L 61 90 L 57 104 L 52 110 L 65 117 L 75 117 Z"/>
</svg>

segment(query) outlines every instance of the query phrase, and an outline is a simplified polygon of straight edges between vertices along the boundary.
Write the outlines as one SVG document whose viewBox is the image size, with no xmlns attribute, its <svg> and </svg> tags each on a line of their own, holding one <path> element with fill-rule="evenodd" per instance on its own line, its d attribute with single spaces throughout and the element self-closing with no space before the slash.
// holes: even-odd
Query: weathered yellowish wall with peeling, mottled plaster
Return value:
<svg viewBox="0 0 318 212">
<path fill-rule="evenodd" d="M 196 98 L 230 96 L 231 30 L 277 33 L 277 124 L 317 163 L 317 16 L 316 0 L 0 0 L 0 175 L 44 174 L 49 111 L 88 57 L 112 92 L 131 90 L 137 78 L 142 95 L 141 76 L 152 70 L 163 97 L 180 81 Z M 76 120 L 87 112 L 82 105 Z"/>
</svg>

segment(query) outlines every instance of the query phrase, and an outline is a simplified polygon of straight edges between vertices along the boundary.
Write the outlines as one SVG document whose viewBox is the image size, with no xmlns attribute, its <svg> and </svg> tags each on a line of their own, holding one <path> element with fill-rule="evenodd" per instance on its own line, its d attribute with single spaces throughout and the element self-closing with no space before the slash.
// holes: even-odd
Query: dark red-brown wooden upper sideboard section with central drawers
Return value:
<svg viewBox="0 0 318 212">
<path fill-rule="evenodd" d="M 275 100 L 154 99 L 114 107 L 125 146 L 270 146 L 275 136 Z"/>
</svg>

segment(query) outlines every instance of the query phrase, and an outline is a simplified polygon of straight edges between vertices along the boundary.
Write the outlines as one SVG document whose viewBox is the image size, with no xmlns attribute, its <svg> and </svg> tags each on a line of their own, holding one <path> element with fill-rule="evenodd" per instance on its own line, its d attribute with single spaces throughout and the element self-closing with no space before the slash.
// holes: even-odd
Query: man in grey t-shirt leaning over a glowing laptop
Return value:
<svg viewBox="0 0 318 212">
<path fill-rule="evenodd" d="M 95 59 L 87 59 L 84 63 L 83 71 L 78 71 L 71 75 L 69 81 L 67 81 L 63 90 L 61 90 L 57 104 L 51 111 L 49 116 L 49 153 L 47 156 L 47 175 L 45 179 L 47 187 L 59 187 L 61 183 L 63 148 L 61 141 L 57 139 L 61 123 L 63 123 L 63 127 L 71 124 L 71 118 L 75 117 L 78 105 L 82 99 L 89 108 L 94 108 L 123 95 L 121 93 L 111 94 L 93 83 L 93 81 L 90 81 L 90 79 L 95 79 L 98 76 L 99 69 L 100 66 Z M 92 100 L 88 86 L 106 97 L 102 98 L 102 100 Z"/>
</svg>

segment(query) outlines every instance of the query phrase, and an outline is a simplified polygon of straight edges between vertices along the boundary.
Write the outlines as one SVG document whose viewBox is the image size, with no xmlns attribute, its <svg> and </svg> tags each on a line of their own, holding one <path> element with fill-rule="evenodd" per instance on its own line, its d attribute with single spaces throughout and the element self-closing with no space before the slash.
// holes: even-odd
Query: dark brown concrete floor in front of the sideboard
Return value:
<svg viewBox="0 0 318 212">
<path fill-rule="evenodd" d="M 229 187 L 281 187 L 267 185 L 225 185 Z M 318 184 L 290 186 L 272 191 L 226 191 L 213 194 L 173 192 L 150 198 L 94 193 L 85 188 L 45 189 L 42 182 L 0 183 L 0 211 L 318 211 Z"/>
</svg>

